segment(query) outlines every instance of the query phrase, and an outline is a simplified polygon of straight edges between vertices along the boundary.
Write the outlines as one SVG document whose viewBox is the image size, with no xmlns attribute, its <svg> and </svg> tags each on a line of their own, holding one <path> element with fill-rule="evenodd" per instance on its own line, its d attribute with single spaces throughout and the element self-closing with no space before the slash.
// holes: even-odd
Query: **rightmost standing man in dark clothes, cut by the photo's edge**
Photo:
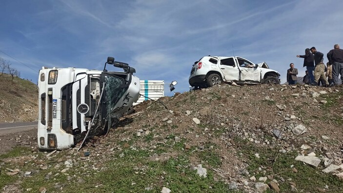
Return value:
<svg viewBox="0 0 343 193">
<path fill-rule="evenodd" d="M 332 80 L 334 85 L 338 85 L 338 78 L 341 75 L 343 83 L 343 49 L 340 49 L 339 44 L 334 45 L 334 49 L 327 53 L 327 59 L 332 64 Z"/>
</svg>

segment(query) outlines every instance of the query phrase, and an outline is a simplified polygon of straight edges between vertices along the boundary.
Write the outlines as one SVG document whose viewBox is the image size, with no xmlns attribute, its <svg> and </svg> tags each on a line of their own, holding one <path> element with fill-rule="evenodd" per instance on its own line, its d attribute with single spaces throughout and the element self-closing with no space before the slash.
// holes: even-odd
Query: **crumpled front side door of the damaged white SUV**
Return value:
<svg viewBox="0 0 343 193">
<path fill-rule="evenodd" d="M 241 71 L 240 81 L 257 81 L 261 82 L 261 70 L 255 67 L 255 64 L 251 62 L 238 58 L 237 63 Z"/>
</svg>

